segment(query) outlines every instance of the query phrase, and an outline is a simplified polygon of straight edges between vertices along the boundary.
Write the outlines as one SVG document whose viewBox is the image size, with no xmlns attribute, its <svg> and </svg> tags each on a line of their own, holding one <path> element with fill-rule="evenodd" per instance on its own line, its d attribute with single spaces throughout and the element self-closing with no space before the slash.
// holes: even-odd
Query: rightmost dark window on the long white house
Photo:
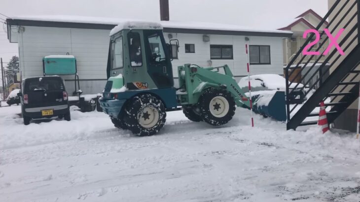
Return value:
<svg viewBox="0 0 360 202">
<path fill-rule="evenodd" d="M 270 46 L 249 46 L 251 65 L 270 65 Z"/>
</svg>

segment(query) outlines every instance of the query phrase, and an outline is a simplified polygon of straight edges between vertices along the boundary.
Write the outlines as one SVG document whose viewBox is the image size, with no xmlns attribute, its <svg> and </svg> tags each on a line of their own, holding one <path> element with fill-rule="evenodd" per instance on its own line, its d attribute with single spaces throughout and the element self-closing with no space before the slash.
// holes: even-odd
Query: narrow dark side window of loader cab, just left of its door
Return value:
<svg viewBox="0 0 360 202">
<path fill-rule="evenodd" d="M 141 67 L 143 65 L 143 58 L 141 52 L 140 34 L 129 33 L 129 51 L 131 67 Z"/>
</svg>

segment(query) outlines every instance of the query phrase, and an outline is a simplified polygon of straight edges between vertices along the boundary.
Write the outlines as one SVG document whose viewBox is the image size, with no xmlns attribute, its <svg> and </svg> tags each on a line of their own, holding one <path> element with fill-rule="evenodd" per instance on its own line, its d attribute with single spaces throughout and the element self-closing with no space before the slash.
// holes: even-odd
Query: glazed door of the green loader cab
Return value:
<svg viewBox="0 0 360 202">
<path fill-rule="evenodd" d="M 147 72 L 158 88 L 174 86 L 173 68 L 161 30 L 144 31 Z"/>
</svg>

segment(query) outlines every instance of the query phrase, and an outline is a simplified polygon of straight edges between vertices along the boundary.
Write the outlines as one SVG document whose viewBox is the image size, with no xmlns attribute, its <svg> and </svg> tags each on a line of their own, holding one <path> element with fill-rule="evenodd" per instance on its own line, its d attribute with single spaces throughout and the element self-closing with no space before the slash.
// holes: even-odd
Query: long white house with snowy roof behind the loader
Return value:
<svg viewBox="0 0 360 202">
<path fill-rule="evenodd" d="M 107 80 L 109 32 L 125 19 L 79 16 L 31 16 L 6 19 L 10 42 L 18 43 L 21 77 L 43 75 L 42 58 L 74 55 L 80 87 L 86 94 L 101 92 Z M 161 21 L 167 42 L 178 39 L 174 77 L 185 63 L 202 67 L 229 65 L 236 78 L 247 74 L 245 44 L 250 45 L 252 74 L 283 74 L 283 38 L 292 32 L 252 30 L 239 26 Z M 64 76 L 68 91 L 74 76 Z"/>
</svg>

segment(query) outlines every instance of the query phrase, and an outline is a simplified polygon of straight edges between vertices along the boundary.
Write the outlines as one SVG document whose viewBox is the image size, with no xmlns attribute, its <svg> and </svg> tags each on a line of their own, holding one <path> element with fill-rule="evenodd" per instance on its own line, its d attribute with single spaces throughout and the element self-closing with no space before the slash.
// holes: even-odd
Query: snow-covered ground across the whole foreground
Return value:
<svg viewBox="0 0 360 202">
<path fill-rule="evenodd" d="M 359 202 L 355 134 L 285 124 L 238 108 L 223 127 L 168 113 L 160 134 L 136 137 L 104 113 L 24 126 L 0 108 L 1 202 Z M 341 135 L 340 135 L 341 134 Z"/>
</svg>

